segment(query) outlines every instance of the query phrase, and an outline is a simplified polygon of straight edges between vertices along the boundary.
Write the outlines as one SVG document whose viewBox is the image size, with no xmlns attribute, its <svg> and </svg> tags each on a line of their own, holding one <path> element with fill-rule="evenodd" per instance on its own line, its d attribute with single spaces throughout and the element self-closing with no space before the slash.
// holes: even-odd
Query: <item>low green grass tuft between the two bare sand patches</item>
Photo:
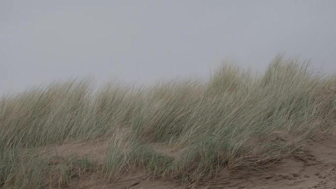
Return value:
<svg viewBox="0 0 336 189">
<path fill-rule="evenodd" d="M 116 130 L 109 143 L 102 171 L 110 182 L 132 173 L 137 167 L 143 170 L 144 177 L 160 176 L 173 162 L 172 157 L 154 151 L 125 129 Z"/>
</svg>

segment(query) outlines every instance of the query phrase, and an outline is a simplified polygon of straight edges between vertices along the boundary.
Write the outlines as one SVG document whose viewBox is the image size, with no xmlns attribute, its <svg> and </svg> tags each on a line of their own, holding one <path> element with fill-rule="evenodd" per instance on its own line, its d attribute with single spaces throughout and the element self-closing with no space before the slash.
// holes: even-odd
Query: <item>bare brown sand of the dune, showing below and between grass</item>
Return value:
<svg viewBox="0 0 336 189">
<path fill-rule="evenodd" d="M 281 136 L 283 140 L 285 137 Z M 77 143 L 56 146 L 59 155 L 71 153 L 91 154 L 101 159 L 108 144 Z M 51 150 L 49 149 L 49 151 Z M 161 149 L 162 150 L 162 149 Z M 166 153 L 169 153 L 168 151 Z M 172 152 L 175 153 L 175 152 Z M 116 183 L 104 183 L 96 175 L 81 180 L 72 189 L 179 189 L 178 181 L 145 179 L 136 171 Z M 274 163 L 264 170 L 241 169 L 222 171 L 214 180 L 200 184 L 195 189 L 336 189 L 336 133 L 321 138 L 311 138 L 301 151 L 292 157 Z"/>
</svg>

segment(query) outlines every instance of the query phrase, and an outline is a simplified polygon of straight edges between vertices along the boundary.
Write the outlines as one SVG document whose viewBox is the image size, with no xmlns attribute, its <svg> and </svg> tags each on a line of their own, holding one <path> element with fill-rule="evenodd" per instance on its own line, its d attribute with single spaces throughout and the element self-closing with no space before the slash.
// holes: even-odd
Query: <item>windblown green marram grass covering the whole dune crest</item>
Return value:
<svg viewBox="0 0 336 189">
<path fill-rule="evenodd" d="M 328 129 L 320 123 L 335 114 L 335 89 L 335 76 L 327 78 L 307 62 L 279 55 L 261 75 L 225 64 L 208 82 L 176 80 L 152 87 L 109 83 L 94 91 L 89 80 L 69 81 L 2 97 L 0 188 L 42 188 L 48 178 L 39 175 L 55 170 L 49 159 L 33 168 L 37 159 L 24 158 L 20 151 L 100 138 L 108 139 L 110 148 L 94 169 L 107 181 L 140 168 L 147 176 L 196 185 L 222 169 L 260 166 L 295 150 L 272 141 L 274 131 L 297 135 L 295 144 Z M 150 143 L 183 151 L 170 157 Z M 20 169 L 24 162 L 26 168 Z M 77 169 L 71 167 L 86 169 L 87 163 L 78 163 L 64 157 L 63 168 L 56 169 L 59 186 L 72 184 Z"/>
</svg>

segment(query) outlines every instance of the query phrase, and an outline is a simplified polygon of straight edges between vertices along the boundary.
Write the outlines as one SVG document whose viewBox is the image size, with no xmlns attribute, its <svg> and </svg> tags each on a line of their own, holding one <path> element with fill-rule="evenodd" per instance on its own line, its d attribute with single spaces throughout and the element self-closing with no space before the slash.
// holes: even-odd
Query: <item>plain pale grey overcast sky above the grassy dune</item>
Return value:
<svg viewBox="0 0 336 189">
<path fill-rule="evenodd" d="M 208 78 L 280 53 L 336 68 L 336 0 L 0 0 L 0 94 L 94 76 Z"/>
</svg>

